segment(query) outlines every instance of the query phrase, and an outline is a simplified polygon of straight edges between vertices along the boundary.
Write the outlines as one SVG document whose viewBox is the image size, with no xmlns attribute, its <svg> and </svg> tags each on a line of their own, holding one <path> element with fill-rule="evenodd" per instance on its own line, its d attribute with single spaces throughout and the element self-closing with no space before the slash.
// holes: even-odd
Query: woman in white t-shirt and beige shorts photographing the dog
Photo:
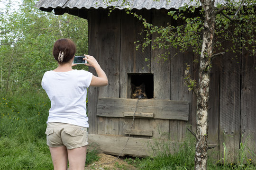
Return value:
<svg viewBox="0 0 256 170">
<path fill-rule="evenodd" d="M 72 66 L 75 44 L 70 39 L 59 39 L 53 48 L 58 67 L 46 71 L 42 87 L 51 100 L 47 120 L 46 139 L 54 170 L 84 170 L 86 159 L 88 117 L 86 93 L 89 86 L 108 85 L 108 78 L 92 56 L 84 55 L 87 66 L 95 68 L 98 76 Z"/>
</svg>

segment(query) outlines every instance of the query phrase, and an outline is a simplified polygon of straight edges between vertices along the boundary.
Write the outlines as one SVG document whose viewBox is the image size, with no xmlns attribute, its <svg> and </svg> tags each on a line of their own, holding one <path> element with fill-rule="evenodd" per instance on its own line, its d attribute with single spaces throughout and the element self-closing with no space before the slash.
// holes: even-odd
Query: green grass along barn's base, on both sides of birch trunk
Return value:
<svg viewBox="0 0 256 170">
<path fill-rule="evenodd" d="M 143 159 L 130 161 L 139 170 L 194 170 L 195 138 L 187 134 L 184 142 L 174 146 L 171 141 L 155 139 L 154 144 L 149 144 L 153 155 Z M 173 150 L 174 153 L 170 153 Z M 226 153 L 227 153 L 226 149 Z M 218 160 L 208 158 L 208 170 L 256 170 L 253 161 L 247 158 L 247 153 L 254 154 L 245 144 L 240 144 L 239 159 L 237 162 L 229 163 L 227 155 L 218 163 Z"/>
</svg>

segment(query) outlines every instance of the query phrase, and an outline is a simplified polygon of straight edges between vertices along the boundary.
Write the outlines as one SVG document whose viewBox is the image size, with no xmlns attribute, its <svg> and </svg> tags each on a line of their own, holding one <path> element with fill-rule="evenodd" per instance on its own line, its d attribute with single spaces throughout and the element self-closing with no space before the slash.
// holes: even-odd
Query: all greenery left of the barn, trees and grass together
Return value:
<svg viewBox="0 0 256 170">
<path fill-rule="evenodd" d="M 57 39 L 72 39 L 76 55 L 88 53 L 85 19 L 34 6 L 34 0 L 23 0 L 18 10 L 7 4 L 0 12 L 0 170 L 53 169 L 45 135 L 50 101 L 41 79 L 57 67 L 52 56 Z M 87 158 L 94 161 L 96 151 Z"/>
</svg>

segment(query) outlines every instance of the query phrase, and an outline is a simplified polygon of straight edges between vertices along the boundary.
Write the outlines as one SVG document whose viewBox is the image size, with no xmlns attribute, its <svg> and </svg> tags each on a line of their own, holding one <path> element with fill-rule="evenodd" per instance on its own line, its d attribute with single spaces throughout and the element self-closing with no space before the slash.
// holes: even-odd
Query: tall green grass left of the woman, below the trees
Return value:
<svg viewBox="0 0 256 170">
<path fill-rule="evenodd" d="M 45 92 L 1 96 L 0 170 L 53 170 L 45 135 L 49 109 Z M 98 159 L 97 152 L 87 158 Z"/>
</svg>

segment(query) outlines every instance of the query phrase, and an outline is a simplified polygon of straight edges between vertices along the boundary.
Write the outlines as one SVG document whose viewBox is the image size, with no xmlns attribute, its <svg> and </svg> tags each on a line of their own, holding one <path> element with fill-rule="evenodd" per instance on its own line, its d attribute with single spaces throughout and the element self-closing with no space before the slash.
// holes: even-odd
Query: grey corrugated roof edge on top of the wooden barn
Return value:
<svg viewBox="0 0 256 170">
<path fill-rule="evenodd" d="M 123 5 L 123 0 L 118 0 L 111 2 L 110 5 L 107 5 L 106 1 L 109 0 L 39 0 L 36 4 L 37 8 L 108 8 L 110 6 L 115 6 L 119 9 L 128 8 L 127 5 Z M 129 6 L 133 9 L 170 9 L 170 8 L 180 8 L 184 4 L 189 6 L 197 6 L 198 0 L 126 0 L 129 3 Z M 215 0 L 215 3 L 225 4 L 226 0 Z"/>
</svg>

